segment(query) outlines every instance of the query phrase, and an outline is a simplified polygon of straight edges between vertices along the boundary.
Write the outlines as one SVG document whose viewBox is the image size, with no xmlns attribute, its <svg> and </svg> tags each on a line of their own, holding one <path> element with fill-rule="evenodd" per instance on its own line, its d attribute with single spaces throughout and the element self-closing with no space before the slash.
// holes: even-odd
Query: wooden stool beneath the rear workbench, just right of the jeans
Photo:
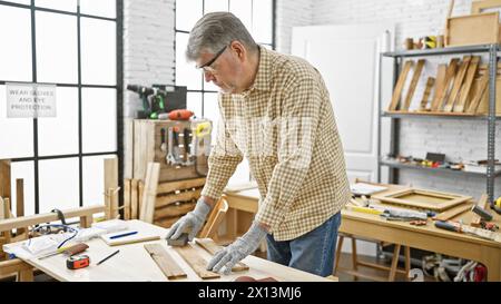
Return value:
<svg viewBox="0 0 501 304">
<path fill-rule="evenodd" d="M 373 280 L 373 281 L 389 281 L 389 282 L 395 281 L 396 273 L 405 274 L 406 277 L 409 277 L 409 271 L 411 269 L 411 248 L 409 246 L 403 246 L 404 255 L 405 255 L 405 269 L 400 269 L 396 266 L 399 264 L 400 248 L 402 247 L 402 245 L 390 244 L 390 243 L 383 244 L 383 247 L 389 246 L 389 245 L 395 245 L 395 248 L 393 249 L 392 264 L 390 267 L 387 267 L 387 266 L 379 265 L 375 263 L 358 261 L 358 258 L 356 256 L 356 238 L 353 235 L 341 234 L 341 233 L 338 236 L 340 236 L 340 239 L 337 243 L 336 257 L 335 257 L 335 262 L 334 262 L 334 275 L 337 274 L 337 268 L 338 268 L 338 263 L 340 263 L 340 257 L 341 257 L 341 248 L 343 247 L 343 241 L 345 237 L 350 237 L 350 238 L 352 238 L 352 269 L 343 269 L 344 273 L 353 275 L 353 276 L 355 276 L 355 278 L 356 277 L 365 277 L 365 278 Z M 365 266 L 365 267 L 381 269 L 381 271 L 389 271 L 390 273 L 389 273 L 387 278 L 381 277 L 381 276 L 366 275 L 366 274 L 362 274 L 358 272 L 358 266 Z"/>
</svg>

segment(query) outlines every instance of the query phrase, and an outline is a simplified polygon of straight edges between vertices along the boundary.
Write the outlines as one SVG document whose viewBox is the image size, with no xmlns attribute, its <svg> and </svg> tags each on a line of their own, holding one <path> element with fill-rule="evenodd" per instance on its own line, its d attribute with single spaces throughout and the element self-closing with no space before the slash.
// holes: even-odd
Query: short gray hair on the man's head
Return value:
<svg viewBox="0 0 501 304">
<path fill-rule="evenodd" d="M 257 51 L 257 43 L 235 14 L 224 11 L 206 13 L 189 33 L 186 59 L 195 61 L 204 50 L 216 53 L 235 40 L 250 52 Z"/>
</svg>

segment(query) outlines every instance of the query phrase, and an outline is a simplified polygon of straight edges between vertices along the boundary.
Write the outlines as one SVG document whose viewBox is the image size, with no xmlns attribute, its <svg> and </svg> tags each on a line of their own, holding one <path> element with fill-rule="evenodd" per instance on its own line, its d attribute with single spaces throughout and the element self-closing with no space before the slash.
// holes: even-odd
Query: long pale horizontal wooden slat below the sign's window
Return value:
<svg viewBox="0 0 501 304">
<path fill-rule="evenodd" d="M 102 213 L 105 210 L 104 205 L 96 205 L 89 207 L 80 207 L 73 209 L 62 210 L 62 214 L 66 218 L 80 217 L 86 215 L 92 215 L 97 213 Z M 47 213 L 47 214 L 36 214 L 28 215 L 21 218 L 9 218 L 0 222 L 0 232 L 6 232 L 16 228 L 22 228 L 27 226 L 33 226 L 41 223 L 49 223 L 58 220 L 58 215 L 56 213 Z"/>
</svg>

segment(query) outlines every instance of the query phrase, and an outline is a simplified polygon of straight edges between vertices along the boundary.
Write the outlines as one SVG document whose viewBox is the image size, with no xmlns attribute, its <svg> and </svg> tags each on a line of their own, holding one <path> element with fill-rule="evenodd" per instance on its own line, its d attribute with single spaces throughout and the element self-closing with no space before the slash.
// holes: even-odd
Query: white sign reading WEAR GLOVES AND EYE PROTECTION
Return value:
<svg viewBox="0 0 501 304">
<path fill-rule="evenodd" d="M 8 82 L 7 117 L 56 117 L 56 85 Z"/>
</svg>

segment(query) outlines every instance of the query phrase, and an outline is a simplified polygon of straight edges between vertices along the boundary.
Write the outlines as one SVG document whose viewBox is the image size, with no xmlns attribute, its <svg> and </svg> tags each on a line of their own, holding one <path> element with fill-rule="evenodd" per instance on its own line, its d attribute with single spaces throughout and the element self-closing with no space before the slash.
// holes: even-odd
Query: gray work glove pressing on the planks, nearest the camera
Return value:
<svg viewBox="0 0 501 304">
<path fill-rule="evenodd" d="M 217 273 L 224 267 L 223 273 L 229 274 L 235 264 L 257 249 L 266 234 L 266 229 L 262 228 L 257 222 L 253 222 L 246 234 L 237 237 L 232 245 L 214 255 L 207 265 L 207 271 Z"/>
</svg>

